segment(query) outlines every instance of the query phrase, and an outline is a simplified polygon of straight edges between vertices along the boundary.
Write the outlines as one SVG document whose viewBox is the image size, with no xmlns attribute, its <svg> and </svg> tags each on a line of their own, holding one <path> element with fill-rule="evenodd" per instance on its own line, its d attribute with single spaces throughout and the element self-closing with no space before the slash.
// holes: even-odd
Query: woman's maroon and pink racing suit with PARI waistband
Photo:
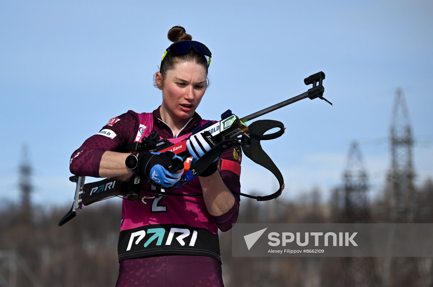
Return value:
<svg viewBox="0 0 433 287">
<path fill-rule="evenodd" d="M 110 119 L 100 132 L 72 154 L 71 172 L 99 177 L 99 164 L 105 151 L 118 151 L 140 141 L 152 130 L 170 142 L 181 142 L 206 122 L 194 113 L 178 135 L 174 135 L 162 121 L 159 108 L 153 113 L 128 111 Z M 219 160 L 224 184 L 237 192 L 240 191 L 241 157 L 240 148 L 235 147 L 223 152 Z M 188 159 L 185 169 L 189 166 L 187 162 Z M 228 212 L 211 216 L 203 196 L 152 198 L 155 193 L 147 191 L 149 189 L 158 191 L 146 182 L 140 191 L 140 195 L 146 197 L 143 201 L 123 200 L 118 244 L 120 272 L 116 286 L 173 286 L 174 282 L 177 286 L 223 286 L 218 229 L 227 231 L 236 222 L 239 195 L 233 194 L 235 204 Z M 200 193 L 200 182 L 194 178 L 175 192 Z M 175 281 L 167 279 L 173 276 Z M 185 279 L 184 283 L 181 278 Z"/>
</svg>

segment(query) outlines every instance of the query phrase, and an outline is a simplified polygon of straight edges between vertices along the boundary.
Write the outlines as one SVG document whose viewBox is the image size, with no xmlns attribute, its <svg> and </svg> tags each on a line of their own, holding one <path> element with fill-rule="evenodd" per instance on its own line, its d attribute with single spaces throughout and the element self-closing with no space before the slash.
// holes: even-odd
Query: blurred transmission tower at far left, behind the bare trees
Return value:
<svg viewBox="0 0 433 287">
<path fill-rule="evenodd" d="M 31 184 L 32 168 L 29 164 L 29 151 L 27 145 L 23 145 L 23 161 L 19 165 L 19 189 L 21 191 L 21 214 L 23 219 L 31 218 L 30 196 L 33 191 Z"/>
</svg>

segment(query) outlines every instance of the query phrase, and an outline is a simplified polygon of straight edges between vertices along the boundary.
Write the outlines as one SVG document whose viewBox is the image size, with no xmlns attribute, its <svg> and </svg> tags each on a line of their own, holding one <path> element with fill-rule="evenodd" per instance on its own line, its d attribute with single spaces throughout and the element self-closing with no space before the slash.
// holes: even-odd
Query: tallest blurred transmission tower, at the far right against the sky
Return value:
<svg viewBox="0 0 433 287">
<path fill-rule="evenodd" d="M 412 158 L 414 140 L 401 89 L 397 89 L 392 110 L 390 144 L 391 168 L 388 171 L 387 182 L 390 219 L 393 223 L 412 223 L 416 213 Z M 418 258 L 386 258 L 384 286 L 425 286 L 425 275 L 421 274 L 419 268 L 422 262 L 423 260 Z"/>
</svg>

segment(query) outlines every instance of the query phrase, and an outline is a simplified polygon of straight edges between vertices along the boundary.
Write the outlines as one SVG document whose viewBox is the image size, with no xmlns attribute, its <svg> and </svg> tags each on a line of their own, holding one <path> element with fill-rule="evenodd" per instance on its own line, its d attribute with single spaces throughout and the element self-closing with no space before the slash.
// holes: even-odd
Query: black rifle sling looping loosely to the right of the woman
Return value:
<svg viewBox="0 0 433 287">
<path fill-rule="evenodd" d="M 274 132 L 268 135 L 264 133 L 270 129 L 280 128 L 278 132 Z M 271 158 L 266 154 L 263 150 L 262 145 L 260 145 L 261 140 L 268 139 L 276 139 L 280 137 L 284 133 L 284 125 L 281 122 L 271 120 L 271 119 L 262 119 L 251 123 L 248 126 L 248 132 L 242 135 L 242 152 L 254 161 L 256 164 L 261 165 L 266 168 L 268 171 L 271 171 L 272 174 L 277 178 L 279 189 L 270 195 L 260 197 L 260 196 L 252 196 L 245 193 L 234 192 L 245 197 L 255 198 L 258 201 L 263 200 L 271 200 L 280 196 L 281 192 L 284 189 L 284 179 L 281 171 L 277 168 L 275 163 L 271 160 Z"/>
</svg>

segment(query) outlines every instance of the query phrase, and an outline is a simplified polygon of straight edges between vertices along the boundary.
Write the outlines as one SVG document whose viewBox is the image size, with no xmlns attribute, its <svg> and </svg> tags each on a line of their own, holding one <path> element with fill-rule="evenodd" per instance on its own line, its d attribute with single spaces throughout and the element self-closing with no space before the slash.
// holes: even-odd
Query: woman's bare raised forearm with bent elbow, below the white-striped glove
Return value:
<svg viewBox="0 0 433 287">
<path fill-rule="evenodd" d="M 235 204 L 235 197 L 221 179 L 219 171 L 208 177 L 198 177 L 203 190 L 204 203 L 211 216 L 220 216 Z"/>
</svg>

